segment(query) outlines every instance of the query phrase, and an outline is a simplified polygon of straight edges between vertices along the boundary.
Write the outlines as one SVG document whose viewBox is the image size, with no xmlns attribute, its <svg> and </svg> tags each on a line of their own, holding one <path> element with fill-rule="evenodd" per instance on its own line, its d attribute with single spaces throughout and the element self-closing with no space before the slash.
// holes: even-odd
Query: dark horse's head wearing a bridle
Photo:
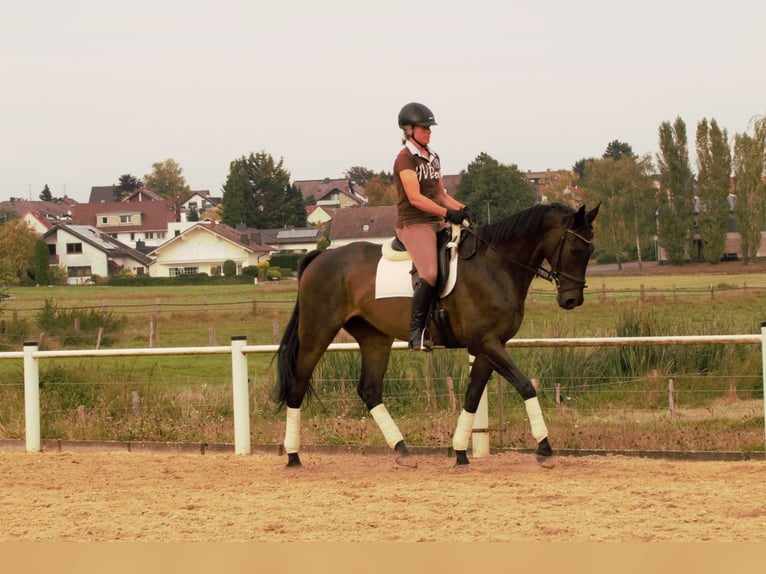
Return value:
<svg viewBox="0 0 766 574">
<path fill-rule="evenodd" d="M 545 249 L 545 258 L 551 265 L 550 279 L 556 285 L 557 302 L 562 309 L 571 310 L 583 304 L 585 270 L 593 253 L 592 223 L 599 207 L 601 203 L 586 212 L 583 205 L 564 215 L 558 237 L 551 234 L 552 248 Z"/>
</svg>

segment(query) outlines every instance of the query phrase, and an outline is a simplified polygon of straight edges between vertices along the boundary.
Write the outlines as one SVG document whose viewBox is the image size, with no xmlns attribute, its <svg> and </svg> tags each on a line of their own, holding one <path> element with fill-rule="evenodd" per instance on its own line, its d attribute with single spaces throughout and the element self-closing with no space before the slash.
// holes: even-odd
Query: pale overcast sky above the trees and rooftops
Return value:
<svg viewBox="0 0 766 574">
<path fill-rule="evenodd" d="M 730 138 L 766 114 L 756 0 L 28 0 L 0 19 L 0 200 L 87 201 L 173 158 L 221 195 L 229 163 L 293 180 L 391 171 L 409 101 L 445 174 L 481 152 L 570 169 L 680 116 Z M 696 170 L 696 166 L 692 165 Z"/>
</svg>

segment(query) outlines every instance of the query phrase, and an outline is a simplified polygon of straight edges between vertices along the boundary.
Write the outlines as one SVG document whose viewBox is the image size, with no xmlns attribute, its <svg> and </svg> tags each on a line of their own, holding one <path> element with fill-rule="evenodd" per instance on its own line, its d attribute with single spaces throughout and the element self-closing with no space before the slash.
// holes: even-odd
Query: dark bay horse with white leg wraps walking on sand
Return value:
<svg viewBox="0 0 766 574">
<path fill-rule="evenodd" d="M 505 219 L 471 228 L 459 246 L 457 282 L 441 299 L 451 327 L 452 347 L 474 355 L 463 410 L 453 447 L 457 464 L 466 455 L 473 419 L 493 371 L 506 378 L 524 399 L 537 455 L 553 454 L 548 442 L 537 390 L 516 367 L 505 342 L 519 330 L 524 301 L 532 279 L 551 280 L 563 309 L 583 303 L 585 270 L 593 253 L 592 223 L 599 206 L 586 211 L 562 205 L 535 205 Z M 376 299 L 375 274 L 381 246 L 357 242 L 326 251 L 312 251 L 298 269 L 298 296 L 277 352 L 275 399 L 287 406 L 284 447 L 288 466 L 300 466 L 301 405 L 313 392 L 311 376 L 335 335 L 345 328 L 362 355 L 357 393 L 380 427 L 398 460 L 409 452 L 396 423 L 383 404 L 383 376 L 394 339 L 407 340 L 410 299 Z M 544 261 L 548 268 L 542 267 Z M 444 336 L 430 322 L 435 345 Z"/>
</svg>

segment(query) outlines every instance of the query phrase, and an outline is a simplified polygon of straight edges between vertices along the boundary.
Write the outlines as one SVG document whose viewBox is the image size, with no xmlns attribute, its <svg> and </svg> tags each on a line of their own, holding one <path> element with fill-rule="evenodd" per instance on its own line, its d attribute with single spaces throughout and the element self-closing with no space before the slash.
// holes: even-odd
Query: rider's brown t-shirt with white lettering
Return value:
<svg viewBox="0 0 766 574">
<path fill-rule="evenodd" d="M 441 180 L 441 165 L 439 156 L 431 152 L 430 159 L 427 159 L 417 153 L 412 144 L 405 145 L 394 161 L 394 181 L 396 182 L 396 192 L 399 200 L 396 204 L 399 215 L 396 222 L 397 227 L 413 225 L 415 223 L 439 223 L 441 217 L 431 213 L 421 211 L 410 203 L 407 194 L 404 191 L 400 173 L 411 169 L 418 176 L 420 183 L 420 193 L 434 201 L 439 195 L 439 181 Z"/>
</svg>

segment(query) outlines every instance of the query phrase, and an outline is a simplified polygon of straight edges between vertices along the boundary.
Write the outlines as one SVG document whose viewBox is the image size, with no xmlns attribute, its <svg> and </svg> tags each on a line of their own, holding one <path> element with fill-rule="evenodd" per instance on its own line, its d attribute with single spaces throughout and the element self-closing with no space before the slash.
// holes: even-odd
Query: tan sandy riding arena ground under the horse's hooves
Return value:
<svg viewBox="0 0 766 574">
<path fill-rule="evenodd" d="M 766 462 L 0 452 L 0 541 L 766 541 Z"/>
</svg>

